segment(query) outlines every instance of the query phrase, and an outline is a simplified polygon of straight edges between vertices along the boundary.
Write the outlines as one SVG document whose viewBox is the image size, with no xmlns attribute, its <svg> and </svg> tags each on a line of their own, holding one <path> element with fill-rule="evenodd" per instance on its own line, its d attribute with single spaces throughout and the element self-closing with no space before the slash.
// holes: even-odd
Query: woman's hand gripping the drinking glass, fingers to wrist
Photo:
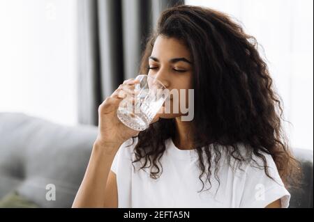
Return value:
<svg viewBox="0 0 314 222">
<path fill-rule="evenodd" d="M 139 132 L 126 127 L 117 117 L 119 103 L 127 96 L 134 93 L 134 85 L 138 80 L 128 79 L 107 97 L 98 108 L 98 136 L 96 143 L 119 148 L 124 141 Z"/>
</svg>

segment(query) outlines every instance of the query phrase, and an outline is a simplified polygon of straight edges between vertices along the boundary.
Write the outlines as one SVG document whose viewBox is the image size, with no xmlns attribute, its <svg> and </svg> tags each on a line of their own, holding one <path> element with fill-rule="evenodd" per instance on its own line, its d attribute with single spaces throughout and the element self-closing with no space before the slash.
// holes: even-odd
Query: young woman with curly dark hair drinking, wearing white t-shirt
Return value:
<svg viewBox="0 0 314 222">
<path fill-rule="evenodd" d="M 159 113 L 148 129 L 129 129 L 117 107 L 137 81 L 124 81 L 99 106 L 73 207 L 288 207 L 287 182 L 297 183 L 299 164 L 252 36 L 216 10 L 170 8 L 140 71 L 170 90 L 193 89 L 194 118 Z"/>
</svg>

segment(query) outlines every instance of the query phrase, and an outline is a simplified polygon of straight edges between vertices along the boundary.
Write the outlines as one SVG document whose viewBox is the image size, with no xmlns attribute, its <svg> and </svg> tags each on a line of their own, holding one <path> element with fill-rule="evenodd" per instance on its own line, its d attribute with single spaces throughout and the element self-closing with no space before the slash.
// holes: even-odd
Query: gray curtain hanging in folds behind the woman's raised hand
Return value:
<svg viewBox="0 0 314 222">
<path fill-rule="evenodd" d="M 78 118 L 98 124 L 98 106 L 138 74 L 145 40 L 160 13 L 184 0 L 79 0 Z"/>
</svg>

